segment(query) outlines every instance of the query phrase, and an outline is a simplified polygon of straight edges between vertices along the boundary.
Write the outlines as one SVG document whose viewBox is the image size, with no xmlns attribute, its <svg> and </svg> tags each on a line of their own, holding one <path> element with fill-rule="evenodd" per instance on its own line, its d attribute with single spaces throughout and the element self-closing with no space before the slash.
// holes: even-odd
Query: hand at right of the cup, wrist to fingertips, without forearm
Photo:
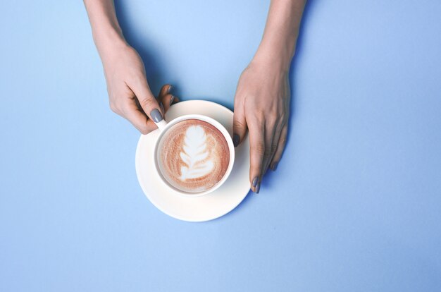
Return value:
<svg viewBox="0 0 441 292">
<path fill-rule="evenodd" d="M 242 142 L 249 130 L 249 181 L 259 193 L 268 167 L 275 170 L 287 138 L 290 115 L 289 73 L 268 62 L 251 61 L 240 75 L 235 94 L 233 142 Z"/>
</svg>

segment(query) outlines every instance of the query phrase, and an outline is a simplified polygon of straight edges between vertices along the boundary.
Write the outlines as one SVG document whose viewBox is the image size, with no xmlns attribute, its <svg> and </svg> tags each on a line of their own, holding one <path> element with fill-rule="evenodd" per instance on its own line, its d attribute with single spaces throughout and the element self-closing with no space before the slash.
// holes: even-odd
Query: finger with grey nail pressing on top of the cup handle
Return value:
<svg viewBox="0 0 441 292">
<path fill-rule="evenodd" d="M 135 93 L 139 105 L 147 116 L 158 123 L 163 119 L 163 111 L 159 106 L 158 101 L 151 93 L 149 85 L 147 84 L 147 79 L 137 78 L 133 80 L 132 83 L 128 84 L 130 89 Z"/>
</svg>

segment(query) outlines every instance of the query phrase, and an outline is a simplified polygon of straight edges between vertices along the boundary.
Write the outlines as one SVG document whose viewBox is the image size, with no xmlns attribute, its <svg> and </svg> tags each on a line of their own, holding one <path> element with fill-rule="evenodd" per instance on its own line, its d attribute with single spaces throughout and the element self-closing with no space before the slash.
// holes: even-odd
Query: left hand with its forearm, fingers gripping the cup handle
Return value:
<svg viewBox="0 0 441 292">
<path fill-rule="evenodd" d="M 110 107 L 127 118 L 139 132 L 156 129 L 154 122 L 163 119 L 170 104 L 178 99 L 164 85 L 158 100 L 147 83 L 144 63 L 135 49 L 125 41 L 116 18 L 112 0 L 84 0 L 92 35 L 106 75 Z"/>
</svg>

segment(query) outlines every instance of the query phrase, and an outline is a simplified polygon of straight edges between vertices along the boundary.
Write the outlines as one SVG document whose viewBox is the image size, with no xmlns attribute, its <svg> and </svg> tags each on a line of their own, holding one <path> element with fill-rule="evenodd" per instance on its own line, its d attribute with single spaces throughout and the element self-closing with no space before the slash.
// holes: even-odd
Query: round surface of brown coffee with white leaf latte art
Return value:
<svg viewBox="0 0 441 292">
<path fill-rule="evenodd" d="M 230 163 L 228 142 L 221 131 L 195 118 L 171 126 L 158 150 L 163 178 L 187 193 L 212 188 L 221 181 Z"/>
</svg>

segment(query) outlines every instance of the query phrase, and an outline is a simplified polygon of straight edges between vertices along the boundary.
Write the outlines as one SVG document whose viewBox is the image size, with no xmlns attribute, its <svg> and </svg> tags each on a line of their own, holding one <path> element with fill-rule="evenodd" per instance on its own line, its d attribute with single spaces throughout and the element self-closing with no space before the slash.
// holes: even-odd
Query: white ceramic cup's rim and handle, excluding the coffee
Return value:
<svg viewBox="0 0 441 292">
<path fill-rule="evenodd" d="M 179 188 L 176 188 L 173 185 L 170 185 L 170 183 L 168 183 L 166 178 L 164 178 L 162 171 L 161 171 L 161 167 L 159 166 L 159 159 L 160 159 L 159 158 L 159 145 L 161 145 L 161 140 L 162 140 L 164 134 L 167 132 L 168 129 L 170 129 L 175 124 L 180 123 L 185 120 L 190 120 L 190 119 L 197 119 L 200 121 L 204 121 L 206 123 L 211 124 L 211 126 L 214 126 L 216 129 L 218 129 L 222 133 L 223 138 L 225 138 L 225 140 L 227 141 L 228 150 L 230 151 L 230 161 L 228 162 L 228 168 L 225 171 L 225 174 L 223 175 L 221 180 L 218 181 L 215 185 L 213 185 L 208 190 L 204 190 L 204 191 L 201 191 L 198 193 L 186 192 L 184 190 L 180 190 Z M 159 133 L 158 139 L 155 142 L 154 152 L 153 152 L 153 155 L 154 155 L 153 160 L 155 162 L 155 168 L 156 168 L 155 172 L 156 172 L 156 174 L 158 174 L 160 181 L 162 181 L 164 183 L 164 185 L 166 185 L 168 188 L 170 188 L 170 190 L 173 190 L 175 193 L 179 193 L 180 195 L 185 195 L 187 197 L 198 197 L 198 196 L 206 195 L 206 194 L 213 192 L 217 188 L 221 187 L 221 185 L 223 183 L 225 183 L 225 181 L 227 180 L 228 176 L 231 173 L 232 166 L 235 161 L 235 147 L 233 145 L 230 133 L 228 133 L 228 130 L 221 123 L 219 123 L 218 121 L 216 121 L 213 118 L 210 118 L 209 116 L 204 116 L 201 114 L 187 114 L 184 116 L 179 116 L 178 118 L 174 118 L 172 121 L 169 121 L 169 122 L 166 122 L 165 119 L 163 119 L 162 121 L 159 121 L 158 123 L 156 123 L 156 126 L 158 126 L 160 133 Z"/>
</svg>

